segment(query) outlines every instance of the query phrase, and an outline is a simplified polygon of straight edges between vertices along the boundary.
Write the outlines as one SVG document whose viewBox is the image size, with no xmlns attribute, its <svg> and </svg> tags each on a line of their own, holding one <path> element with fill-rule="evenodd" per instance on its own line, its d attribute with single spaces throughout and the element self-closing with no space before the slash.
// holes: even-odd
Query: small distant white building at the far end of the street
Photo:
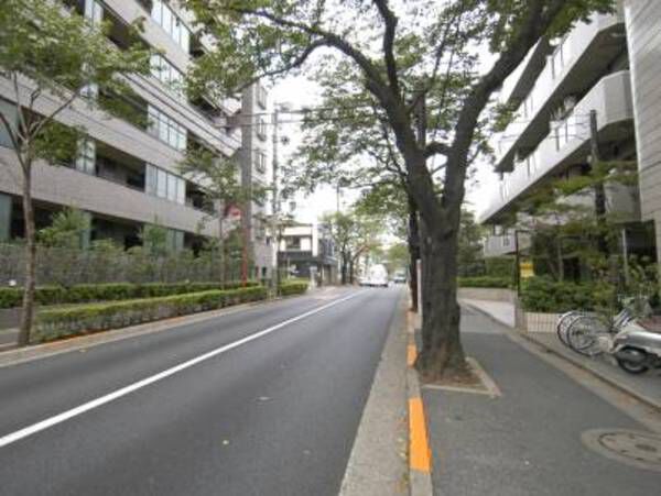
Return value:
<svg viewBox="0 0 661 496">
<path fill-rule="evenodd" d="M 284 229 L 278 251 L 281 271 L 295 277 L 315 276 L 321 284 L 337 283 L 337 256 L 328 228 L 295 223 Z"/>
</svg>

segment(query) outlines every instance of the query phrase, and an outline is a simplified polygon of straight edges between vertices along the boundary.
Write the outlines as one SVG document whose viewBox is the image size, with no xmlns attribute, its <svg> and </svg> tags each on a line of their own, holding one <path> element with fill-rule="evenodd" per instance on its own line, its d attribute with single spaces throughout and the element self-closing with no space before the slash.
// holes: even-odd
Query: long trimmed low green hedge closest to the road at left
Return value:
<svg viewBox="0 0 661 496">
<path fill-rule="evenodd" d="M 36 317 L 31 341 L 43 343 L 266 298 L 267 288 L 252 286 L 44 310 Z"/>
</svg>

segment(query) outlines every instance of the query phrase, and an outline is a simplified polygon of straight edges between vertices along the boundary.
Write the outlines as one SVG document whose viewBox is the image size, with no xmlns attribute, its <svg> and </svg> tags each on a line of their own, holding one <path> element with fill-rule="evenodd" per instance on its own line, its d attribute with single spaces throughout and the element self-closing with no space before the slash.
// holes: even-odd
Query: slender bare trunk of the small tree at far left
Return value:
<svg viewBox="0 0 661 496">
<path fill-rule="evenodd" d="M 23 284 L 23 308 L 19 345 L 30 344 L 30 332 L 34 313 L 34 287 L 36 273 L 36 240 L 34 210 L 32 207 L 32 164 L 28 162 L 23 169 L 23 217 L 25 224 L 25 282 Z"/>
</svg>

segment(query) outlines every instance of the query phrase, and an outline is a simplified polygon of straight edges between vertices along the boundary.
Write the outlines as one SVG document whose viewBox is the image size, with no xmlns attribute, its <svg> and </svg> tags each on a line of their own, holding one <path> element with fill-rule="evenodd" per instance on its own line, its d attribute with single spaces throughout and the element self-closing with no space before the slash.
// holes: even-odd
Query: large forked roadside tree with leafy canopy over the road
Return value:
<svg viewBox="0 0 661 496">
<path fill-rule="evenodd" d="M 261 77 L 300 69 L 313 55 L 316 63 L 357 76 L 348 89 L 369 93 L 370 101 L 357 103 L 383 117 L 423 223 L 423 348 L 416 366 L 431 379 L 464 373 L 456 256 L 465 180 L 472 158 L 483 151 L 485 111 L 542 36 L 562 35 L 592 12 L 611 10 L 614 1 L 184 3 L 218 41 L 196 60 L 197 87 L 232 93 Z M 494 54 L 486 69 L 478 65 L 479 46 Z M 444 167 L 441 190 L 427 164 L 436 155 Z"/>
</svg>

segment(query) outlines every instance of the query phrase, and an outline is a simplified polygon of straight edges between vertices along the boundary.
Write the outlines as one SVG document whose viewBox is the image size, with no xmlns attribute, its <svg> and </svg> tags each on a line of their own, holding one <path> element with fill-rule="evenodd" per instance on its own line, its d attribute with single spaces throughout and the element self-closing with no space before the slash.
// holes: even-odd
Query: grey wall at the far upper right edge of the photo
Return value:
<svg viewBox="0 0 661 496">
<path fill-rule="evenodd" d="M 625 2 L 636 118 L 641 213 L 654 220 L 661 260 L 661 2 Z"/>
</svg>

